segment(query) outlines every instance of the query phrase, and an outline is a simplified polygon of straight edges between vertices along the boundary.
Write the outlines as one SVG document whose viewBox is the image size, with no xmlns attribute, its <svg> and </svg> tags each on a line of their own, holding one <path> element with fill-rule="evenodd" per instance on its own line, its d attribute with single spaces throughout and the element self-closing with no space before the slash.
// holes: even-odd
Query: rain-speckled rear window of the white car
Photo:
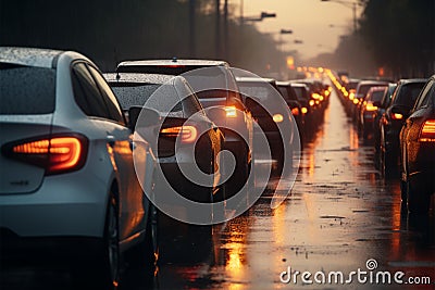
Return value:
<svg viewBox="0 0 435 290">
<path fill-rule="evenodd" d="M 55 70 L 0 63 L 0 114 L 54 112 Z"/>
</svg>

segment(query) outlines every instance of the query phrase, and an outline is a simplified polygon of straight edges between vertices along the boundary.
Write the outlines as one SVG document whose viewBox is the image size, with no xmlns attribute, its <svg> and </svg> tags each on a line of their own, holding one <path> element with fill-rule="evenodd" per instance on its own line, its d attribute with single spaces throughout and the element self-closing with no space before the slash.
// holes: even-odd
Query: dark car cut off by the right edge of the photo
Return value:
<svg viewBox="0 0 435 290">
<path fill-rule="evenodd" d="M 393 112 L 409 115 L 400 108 Z M 427 214 L 435 191 L 435 75 L 427 80 L 405 122 L 400 148 L 402 200 L 409 212 Z"/>
</svg>

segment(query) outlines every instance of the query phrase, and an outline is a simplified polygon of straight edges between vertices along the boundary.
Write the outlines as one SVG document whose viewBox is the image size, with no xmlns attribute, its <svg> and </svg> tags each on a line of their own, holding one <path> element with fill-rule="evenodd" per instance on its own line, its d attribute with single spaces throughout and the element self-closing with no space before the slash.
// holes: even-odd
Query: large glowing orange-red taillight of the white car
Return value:
<svg viewBox="0 0 435 290">
<path fill-rule="evenodd" d="M 57 136 L 5 144 L 5 155 L 46 168 L 46 175 L 77 171 L 86 162 L 85 137 Z"/>
</svg>

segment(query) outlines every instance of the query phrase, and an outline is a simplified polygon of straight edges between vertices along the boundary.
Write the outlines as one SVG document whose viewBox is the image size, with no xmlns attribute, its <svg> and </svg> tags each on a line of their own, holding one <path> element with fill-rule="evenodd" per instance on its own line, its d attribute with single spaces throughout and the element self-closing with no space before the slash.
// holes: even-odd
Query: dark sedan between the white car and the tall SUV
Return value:
<svg viewBox="0 0 435 290">
<path fill-rule="evenodd" d="M 123 110 L 145 106 L 158 111 L 161 115 L 159 137 L 151 143 L 164 175 L 164 179 L 163 176 L 158 176 L 156 199 L 167 194 L 171 190 L 163 181 L 167 180 L 176 193 L 188 200 L 215 201 L 219 191 L 216 185 L 220 179 L 216 154 L 221 151 L 223 136 L 203 113 L 188 83 L 181 76 L 157 74 L 112 73 L 104 76 Z M 136 131 L 148 139 L 154 135 L 153 131 L 140 127 L 139 129 L 136 127 Z M 210 176 L 208 180 L 210 186 L 194 182 L 185 176 L 185 172 L 182 172 L 183 168 L 190 172 L 196 165 Z M 165 200 L 159 201 L 167 204 L 167 209 L 173 205 Z"/>
</svg>

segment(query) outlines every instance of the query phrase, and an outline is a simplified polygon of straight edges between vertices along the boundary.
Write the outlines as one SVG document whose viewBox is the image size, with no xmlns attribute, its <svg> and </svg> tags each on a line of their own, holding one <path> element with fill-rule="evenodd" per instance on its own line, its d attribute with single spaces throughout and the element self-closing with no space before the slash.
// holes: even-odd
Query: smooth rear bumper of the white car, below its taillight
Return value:
<svg viewBox="0 0 435 290">
<path fill-rule="evenodd" d="M 107 199 L 97 178 L 49 176 L 34 193 L 0 196 L 0 228 L 20 237 L 102 237 Z"/>
</svg>

